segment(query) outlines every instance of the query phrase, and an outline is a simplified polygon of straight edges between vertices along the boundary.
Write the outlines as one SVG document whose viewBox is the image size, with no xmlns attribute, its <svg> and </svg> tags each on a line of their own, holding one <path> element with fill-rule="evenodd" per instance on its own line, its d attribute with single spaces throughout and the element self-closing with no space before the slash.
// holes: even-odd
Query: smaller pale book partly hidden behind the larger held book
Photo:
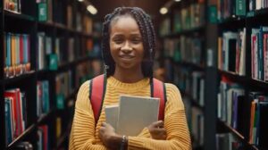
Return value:
<svg viewBox="0 0 268 150">
<path fill-rule="evenodd" d="M 113 104 L 113 105 L 105 105 L 105 118 L 106 122 L 113 126 L 113 129 L 116 129 L 117 121 L 118 121 L 118 110 L 119 105 Z"/>
</svg>

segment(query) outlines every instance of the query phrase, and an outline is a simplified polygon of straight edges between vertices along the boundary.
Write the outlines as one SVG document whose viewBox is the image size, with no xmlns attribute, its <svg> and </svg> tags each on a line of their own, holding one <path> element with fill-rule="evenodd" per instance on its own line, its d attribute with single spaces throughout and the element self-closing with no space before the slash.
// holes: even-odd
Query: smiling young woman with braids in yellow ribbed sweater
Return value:
<svg viewBox="0 0 268 150">
<path fill-rule="evenodd" d="M 120 95 L 150 96 L 155 31 L 146 12 L 119 7 L 106 15 L 102 50 L 107 77 L 103 106 L 118 104 Z M 86 81 L 77 96 L 70 149 L 191 149 L 184 105 L 174 85 L 165 83 L 164 121 L 145 127 L 137 137 L 126 137 L 105 123 L 104 109 L 95 121 L 89 84 Z"/>
</svg>

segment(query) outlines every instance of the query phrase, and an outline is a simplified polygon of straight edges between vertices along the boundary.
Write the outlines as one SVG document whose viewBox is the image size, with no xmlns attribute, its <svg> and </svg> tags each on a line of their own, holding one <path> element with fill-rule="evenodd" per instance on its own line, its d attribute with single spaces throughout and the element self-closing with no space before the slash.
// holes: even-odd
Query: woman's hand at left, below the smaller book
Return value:
<svg viewBox="0 0 268 150">
<path fill-rule="evenodd" d="M 121 137 L 115 133 L 110 124 L 105 122 L 99 129 L 99 137 L 108 149 L 118 149 L 121 144 Z"/>
</svg>

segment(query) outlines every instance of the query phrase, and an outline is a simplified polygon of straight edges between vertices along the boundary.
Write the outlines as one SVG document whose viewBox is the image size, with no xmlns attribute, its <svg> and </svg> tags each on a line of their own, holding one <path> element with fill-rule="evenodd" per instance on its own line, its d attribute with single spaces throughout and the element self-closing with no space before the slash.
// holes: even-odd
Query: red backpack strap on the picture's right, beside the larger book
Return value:
<svg viewBox="0 0 268 150">
<path fill-rule="evenodd" d="M 155 79 L 155 78 L 150 80 L 150 85 L 151 85 L 151 97 L 160 98 L 158 121 L 163 121 L 164 108 L 165 108 L 165 103 L 166 103 L 165 85 L 162 81 Z"/>
</svg>

